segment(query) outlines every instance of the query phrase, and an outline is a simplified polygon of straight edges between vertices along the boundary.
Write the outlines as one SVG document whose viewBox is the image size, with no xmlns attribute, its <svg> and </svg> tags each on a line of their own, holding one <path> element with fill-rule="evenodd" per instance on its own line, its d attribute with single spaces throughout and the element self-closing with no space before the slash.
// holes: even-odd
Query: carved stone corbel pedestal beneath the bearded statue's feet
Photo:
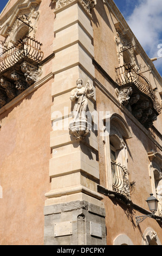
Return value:
<svg viewBox="0 0 162 256">
<path fill-rule="evenodd" d="M 70 135 L 81 141 L 89 133 L 87 120 L 77 119 L 70 121 L 69 131 Z"/>
</svg>

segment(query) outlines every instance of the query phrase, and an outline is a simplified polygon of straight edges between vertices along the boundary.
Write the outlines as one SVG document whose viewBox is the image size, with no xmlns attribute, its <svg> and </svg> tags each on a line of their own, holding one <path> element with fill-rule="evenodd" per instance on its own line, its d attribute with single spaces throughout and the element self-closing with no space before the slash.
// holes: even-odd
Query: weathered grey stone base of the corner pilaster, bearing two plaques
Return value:
<svg viewBox="0 0 162 256">
<path fill-rule="evenodd" d="M 106 245 L 105 209 L 86 201 L 44 206 L 44 245 Z"/>
</svg>

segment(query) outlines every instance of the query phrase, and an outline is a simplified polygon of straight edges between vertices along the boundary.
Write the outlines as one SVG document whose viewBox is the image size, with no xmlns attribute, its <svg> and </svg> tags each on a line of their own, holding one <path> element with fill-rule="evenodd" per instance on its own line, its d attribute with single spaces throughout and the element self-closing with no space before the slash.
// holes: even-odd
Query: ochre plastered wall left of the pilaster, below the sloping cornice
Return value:
<svg viewBox="0 0 162 256">
<path fill-rule="evenodd" d="M 49 81 L 0 116 L 1 245 L 43 245 L 50 107 Z"/>
</svg>

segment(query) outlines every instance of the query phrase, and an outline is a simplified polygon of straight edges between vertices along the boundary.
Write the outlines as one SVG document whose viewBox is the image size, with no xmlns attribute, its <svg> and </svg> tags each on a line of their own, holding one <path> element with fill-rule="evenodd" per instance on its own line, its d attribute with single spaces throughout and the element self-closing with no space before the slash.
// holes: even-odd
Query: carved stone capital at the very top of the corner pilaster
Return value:
<svg viewBox="0 0 162 256">
<path fill-rule="evenodd" d="M 51 0 L 52 2 L 56 3 L 55 10 L 58 10 L 67 4 L 73 3 L 76 0 Z M 96 0 L 78 0 L 83 7 L 90 13 L 90 10 L 92 10 L 96 5 Z"/>
</svg>

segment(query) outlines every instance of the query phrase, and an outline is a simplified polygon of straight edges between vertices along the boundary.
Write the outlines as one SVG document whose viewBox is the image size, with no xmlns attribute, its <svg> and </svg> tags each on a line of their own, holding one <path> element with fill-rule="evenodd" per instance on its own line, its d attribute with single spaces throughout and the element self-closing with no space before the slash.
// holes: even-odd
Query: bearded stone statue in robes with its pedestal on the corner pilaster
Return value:
<svg viewBox="0 0 162 256">
<path fill-rule="evenodd" d="M 70 100 L 73 102 L 73 120 L 69 124 L 70 135 L 82 140 L 89 133 L 86 112 L 88 110 L 88 99 L 94 96 L 94 88 L 87 81 L 83 87 L 83 81 L 79 78 L 76 81 L 76 88 L 70 93 Z"/>
</svg>

